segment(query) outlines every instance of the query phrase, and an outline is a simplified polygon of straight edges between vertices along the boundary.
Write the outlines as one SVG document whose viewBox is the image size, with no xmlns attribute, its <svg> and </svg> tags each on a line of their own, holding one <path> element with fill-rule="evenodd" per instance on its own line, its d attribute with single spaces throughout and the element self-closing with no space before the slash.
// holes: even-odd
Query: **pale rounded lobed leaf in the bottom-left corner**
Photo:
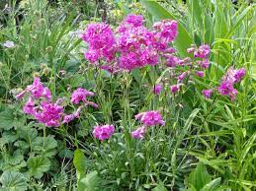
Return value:
<svg viewBox="0 0 256 191">
<path fill-rule="evenodd" d="M 27 190 L 28 184 L 24 175 L 17 171 L 4 171 L 0 177 L 2 187 L 10 191 Z"/>
</svg>

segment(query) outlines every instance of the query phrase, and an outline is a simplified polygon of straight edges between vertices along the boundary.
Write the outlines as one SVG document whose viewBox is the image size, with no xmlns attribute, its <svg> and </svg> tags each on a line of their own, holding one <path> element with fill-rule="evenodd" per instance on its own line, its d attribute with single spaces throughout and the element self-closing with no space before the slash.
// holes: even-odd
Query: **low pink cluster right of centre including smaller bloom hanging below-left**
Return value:
<svg viewBox="0 0 256 191">
<path fill-rule="evenodd" d="M 157 110 L 138 113 L 135 115 L 135 119 L 140 120 L 143 125 L 131 132 L 131 137 L 134 139 L 142 139 L 148 126 L 165 125 L 161 114 Z"/>
</svg>

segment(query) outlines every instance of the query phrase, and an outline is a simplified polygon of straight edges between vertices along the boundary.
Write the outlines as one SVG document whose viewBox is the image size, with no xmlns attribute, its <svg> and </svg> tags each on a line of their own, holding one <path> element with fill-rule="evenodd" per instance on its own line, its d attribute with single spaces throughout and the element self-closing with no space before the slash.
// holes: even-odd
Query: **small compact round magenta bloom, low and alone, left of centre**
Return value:
<svg viewBox="0 0 256 191">
<path fill-rule="evenodd" d="M 113 133 L 115 132 L 115 127 L 113 125 L 103 125 L 95 126 L 93 130 L 93 135 L 98 140 L 107 140 L 110 139 Z"/>
</svg>

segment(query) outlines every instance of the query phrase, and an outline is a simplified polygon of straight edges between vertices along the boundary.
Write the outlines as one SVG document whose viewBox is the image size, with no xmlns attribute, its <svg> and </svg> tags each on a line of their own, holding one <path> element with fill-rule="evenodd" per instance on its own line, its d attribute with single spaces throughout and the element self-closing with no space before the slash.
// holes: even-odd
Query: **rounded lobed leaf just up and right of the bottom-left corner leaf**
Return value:
<svg viewBox="0 0 256 191">
<path fill-rule="evenodd" d="M 43 157 L 30 158 L 27 161 L 27 165 L 31 175 L 36 178 L 41 178 L 43 173 L 49 170 L 50 161 Z"/>
</svg>

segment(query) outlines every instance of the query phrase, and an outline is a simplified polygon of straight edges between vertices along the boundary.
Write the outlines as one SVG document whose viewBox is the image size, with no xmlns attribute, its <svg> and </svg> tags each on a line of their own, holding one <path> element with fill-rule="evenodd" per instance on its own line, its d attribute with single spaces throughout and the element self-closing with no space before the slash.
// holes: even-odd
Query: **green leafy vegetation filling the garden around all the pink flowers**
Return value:
<svg viewBox="0 0 256 191">
<path fill-rule="evenodd" d="M 256 55 L 252 1 L 46 1 L 0 3 L 1 190 L 255 190 Z M 112 27 L 129 13 L 145 25 L 179 23 L 174 46 L 181 57 L 190 44 L 212 47 L 206 78 L 179 96 L 153 96 L 166 71 L 148 67 L 129 74 L 95 71 L 78 37 L 91 22 Z M 7 47 L 5 42 L 13 41 Z M 235 101 L 206 99 L 227 68 L 245 67 Z M 78 87 L 93 90 L 100 108 L 60 128 L 45 128 L 22 112 L 14 95 L 41 76 L 54 97 Z M 132 140 L 134 114 L 158 108 L 166 125 Z M 96 123 L 113 123 L 106 142 L 92 137 Z M 124 133 L 126 132 L 126 133 Z"/>
</svg>

